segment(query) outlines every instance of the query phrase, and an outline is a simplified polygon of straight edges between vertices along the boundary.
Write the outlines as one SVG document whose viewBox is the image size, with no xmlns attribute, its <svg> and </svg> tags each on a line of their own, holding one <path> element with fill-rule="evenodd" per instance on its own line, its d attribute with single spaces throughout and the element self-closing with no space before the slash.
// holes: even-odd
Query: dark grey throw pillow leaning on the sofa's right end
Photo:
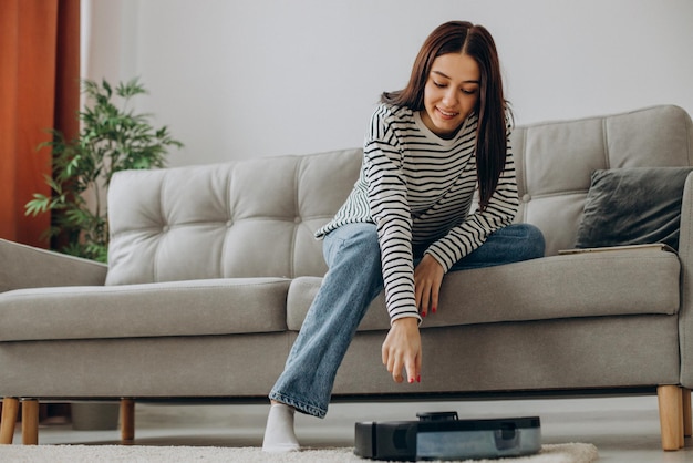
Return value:
<svg viewBox="0 0 693 463">
<path fill-rule="evenodd" d="M 678 249 L 683 185 L 692 169 L 594 171 L 575 247 L 664 243 Z"/>
</svg>

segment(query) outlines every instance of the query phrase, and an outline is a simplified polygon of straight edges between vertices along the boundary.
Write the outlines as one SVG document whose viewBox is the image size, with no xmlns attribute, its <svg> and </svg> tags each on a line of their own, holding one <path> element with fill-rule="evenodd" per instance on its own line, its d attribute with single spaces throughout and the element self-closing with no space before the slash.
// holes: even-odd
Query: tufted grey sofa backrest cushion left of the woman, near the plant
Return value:
<svg viewBox="0 0 693 463">
<path fill-rule="evenodd" d="M 359 176 L 361 150 L 118 172 L 106 285 L 322 276 L 314 232 Z"/>
</svg>

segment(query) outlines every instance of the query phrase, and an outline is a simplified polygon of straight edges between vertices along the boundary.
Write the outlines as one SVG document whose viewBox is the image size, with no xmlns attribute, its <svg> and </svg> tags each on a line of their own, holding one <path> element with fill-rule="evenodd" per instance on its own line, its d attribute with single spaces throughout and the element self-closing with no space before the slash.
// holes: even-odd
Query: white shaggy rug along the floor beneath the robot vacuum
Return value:
<svg viewBox="0 0 693 463">
<path fill-rule="evenodd" d="M 519 459 L 475 460 L 475 463 L 590 463 L 599 454 L 592 444 L 542 445 L 540 453 Z M 187 462 L 368 462 L 352 447 L 308 449 L 286 454 L 263 453 L 259 447 L 152 446 L 152 445 L 0 445 L 0 461 L 27 463 L 187 463 Z M 468 461 L 469 462 L 469 461 Z"/>
</svg>

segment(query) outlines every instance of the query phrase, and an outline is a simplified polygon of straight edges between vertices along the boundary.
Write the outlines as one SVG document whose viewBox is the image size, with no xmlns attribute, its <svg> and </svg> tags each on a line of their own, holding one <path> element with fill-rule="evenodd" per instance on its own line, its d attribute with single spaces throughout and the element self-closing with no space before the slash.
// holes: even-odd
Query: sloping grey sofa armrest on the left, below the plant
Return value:
<svg viewBox="0 0 693 463">
<path fill-rule="evenodd" d="M 54 286 L 102 286 L 105 264 L 0 239 L 0 292 Z"/>
</svg>

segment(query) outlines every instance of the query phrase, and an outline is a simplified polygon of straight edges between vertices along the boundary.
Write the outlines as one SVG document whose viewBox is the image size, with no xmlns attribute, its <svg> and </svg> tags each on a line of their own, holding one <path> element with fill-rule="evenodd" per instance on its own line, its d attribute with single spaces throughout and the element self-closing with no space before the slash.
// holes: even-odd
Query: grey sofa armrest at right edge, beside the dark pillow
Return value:
<svg viewBox="0 0 693 463">
<path fill-rule="evenodd" d="M 681 307 L 679 311 L 679 350 L 681 354 L 681 384 L 693 388 L 693 173 L 683 187 L 681 204 Z"/>
</svg>

